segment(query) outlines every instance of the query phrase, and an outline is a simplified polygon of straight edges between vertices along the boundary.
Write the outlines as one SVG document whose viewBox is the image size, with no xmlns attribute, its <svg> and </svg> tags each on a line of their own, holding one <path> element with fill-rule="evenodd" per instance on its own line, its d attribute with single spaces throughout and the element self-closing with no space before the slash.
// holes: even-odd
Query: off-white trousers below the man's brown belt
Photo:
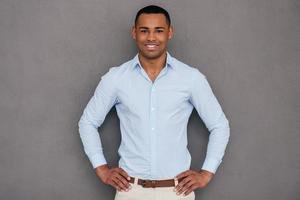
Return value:
<svg viewBox="0 0 300 200">
<path fill-rule="evenodd" d="M 175 187 L 156 187 L 144 188 L 137 184 L 138 179 L 134 179 L 134 183 L 130 183 L 131 189 L 128 192 L 116 192 L 115 200 L 195 200 L 194 191 L 187 196 L 177 195 L 174 191 Z M 175 180 L 175 186 L 178 181 Z"/>
</svg>

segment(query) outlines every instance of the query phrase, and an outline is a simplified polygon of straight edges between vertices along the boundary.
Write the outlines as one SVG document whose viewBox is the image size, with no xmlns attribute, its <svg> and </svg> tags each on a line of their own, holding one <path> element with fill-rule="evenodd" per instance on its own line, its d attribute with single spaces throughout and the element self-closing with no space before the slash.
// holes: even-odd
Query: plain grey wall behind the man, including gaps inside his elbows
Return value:
<svg viewBox="0 0 300 200">
<path fill-rule="evenodd" d="M 131 59 L 139 8 L 169 10 L 173 56 L 210 82 L 231 125 L 205 200 L 300 199 L 300 1 L 0 0 L 0 199 L 113 199 L 83 152 L 77 122 L 101 75 Z M 115 109 L 101 126 L 117 164 Z M 208 132 L 190 118 L 192 169 Z"/>
</svg>

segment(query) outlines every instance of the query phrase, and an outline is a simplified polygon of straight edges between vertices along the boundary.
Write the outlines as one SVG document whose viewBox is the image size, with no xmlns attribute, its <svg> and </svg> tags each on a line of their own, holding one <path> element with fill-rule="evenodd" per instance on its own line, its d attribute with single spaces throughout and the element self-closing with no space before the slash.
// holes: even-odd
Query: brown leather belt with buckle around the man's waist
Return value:
<svg viewBox="0 0 300 200">
<path fill-rule="evenodd" d="M 135 178 L 130 177 L 129 182 L 134 183 L 134 179 Z M 143 180 L 143 179 L 138 179 L 138 185 L 141 185 L 144 188 L 174 187 L 175 186 L 175 180 L 174 179 L 165 179 L 165 180 Z"/>
</svg>

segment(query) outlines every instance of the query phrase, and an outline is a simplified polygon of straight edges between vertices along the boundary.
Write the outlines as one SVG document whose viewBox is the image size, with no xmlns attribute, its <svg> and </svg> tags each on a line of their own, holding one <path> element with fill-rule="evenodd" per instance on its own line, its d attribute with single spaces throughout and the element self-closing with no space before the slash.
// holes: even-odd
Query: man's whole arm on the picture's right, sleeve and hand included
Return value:
<svg viewBox="0 0 300 200">
<path fill-rule="evenodd" d="M 213 178 L 222 162 L 230 131 L 229 122 L 204 75 L 198 70 L 194 79 L 190 102 L 207 127 L 209 140 L 206 158 L 200 172 L 187 170 L 177 176 L 183 180 L 177 185 L 179 194 L 189 194 L 197 188 L 204 188 Z"/>
</svg>

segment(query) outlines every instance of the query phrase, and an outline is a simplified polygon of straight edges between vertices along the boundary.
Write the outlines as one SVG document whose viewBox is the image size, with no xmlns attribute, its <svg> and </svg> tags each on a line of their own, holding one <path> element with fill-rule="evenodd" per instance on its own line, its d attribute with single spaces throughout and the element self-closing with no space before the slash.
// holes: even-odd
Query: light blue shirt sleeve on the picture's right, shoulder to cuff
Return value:
<svg viewBox="0 0 300 200">
<path fill-rule="evenodd" d="M 206 157 L 201 169 L 215 173 L 222 162 L 229 141 L 229 122 L 204 76 L 196 69 L 190 101 L 207 127 L 209 134 Z"/>
</svg>

